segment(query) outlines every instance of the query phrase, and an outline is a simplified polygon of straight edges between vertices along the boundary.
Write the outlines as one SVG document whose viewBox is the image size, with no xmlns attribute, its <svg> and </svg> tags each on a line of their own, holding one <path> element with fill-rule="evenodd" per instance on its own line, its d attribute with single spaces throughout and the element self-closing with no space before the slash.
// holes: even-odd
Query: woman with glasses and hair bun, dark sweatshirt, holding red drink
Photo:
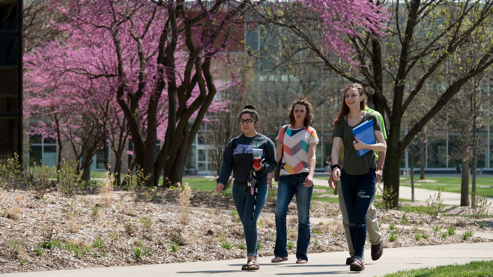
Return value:
<svg viewBox="0 0 493 277">
<path fill-rule="evenodd" d="M 255 106 L 246 105 L 239 119 L 243 134 L 231 139 L 224 149 L 215 191 L 222 192 L 233 171 L 233 202 L 243 224 L 246 241 L 247 262 L 242 270 L 258 270 L 257 218 L 267 199 L 267 174 L 277 166 L 276 149 L 270 138 L 257 132 L 259 117 Z M 257 166 L 253 162 L 254 155 L 261 158 Z"/>
</svg>

